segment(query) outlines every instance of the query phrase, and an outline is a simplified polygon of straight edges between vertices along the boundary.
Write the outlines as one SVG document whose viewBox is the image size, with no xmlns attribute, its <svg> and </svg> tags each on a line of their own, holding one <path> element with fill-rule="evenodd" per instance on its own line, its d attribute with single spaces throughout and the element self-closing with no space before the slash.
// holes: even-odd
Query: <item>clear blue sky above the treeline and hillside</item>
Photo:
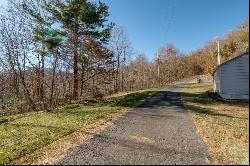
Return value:
<svg viewBox="0 0 250 166">
<path fill-rule="evenodd" d="M 101 0 L 123 26 L 134 51 L 149 60 L 167 43 L 181 52 L 201 48 L 248 20 L 248 0 Z M 1 0 L 0 5 L 6 3 Z"/>
</svg>

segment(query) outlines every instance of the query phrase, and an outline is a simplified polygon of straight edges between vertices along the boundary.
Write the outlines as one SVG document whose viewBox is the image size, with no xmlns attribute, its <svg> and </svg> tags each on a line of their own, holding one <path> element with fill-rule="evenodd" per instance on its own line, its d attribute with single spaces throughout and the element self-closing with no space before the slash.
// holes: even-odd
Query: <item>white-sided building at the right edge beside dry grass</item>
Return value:
<svg viewBox="0 0 250 166">
<path fill-rule="evenodd" d="M 213 81 L 214 91 L 222 98 L 249 101 L 249 52 L 218 66 Z"/>
</svg>

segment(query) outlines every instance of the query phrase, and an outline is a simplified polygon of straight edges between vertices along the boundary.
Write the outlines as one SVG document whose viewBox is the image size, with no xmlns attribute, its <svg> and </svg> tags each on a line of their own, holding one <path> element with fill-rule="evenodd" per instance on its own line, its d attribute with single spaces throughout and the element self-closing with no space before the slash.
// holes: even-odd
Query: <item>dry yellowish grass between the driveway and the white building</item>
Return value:
<svg viewBox="0 0 250 166">
<path fill-rule="evenodd" d="M 247 164 L 249 103 L 213 101 L 205 93 L 211 89 L 212 85 L 187 85 L 184 105 L 216 164 Z"/>
</svg>

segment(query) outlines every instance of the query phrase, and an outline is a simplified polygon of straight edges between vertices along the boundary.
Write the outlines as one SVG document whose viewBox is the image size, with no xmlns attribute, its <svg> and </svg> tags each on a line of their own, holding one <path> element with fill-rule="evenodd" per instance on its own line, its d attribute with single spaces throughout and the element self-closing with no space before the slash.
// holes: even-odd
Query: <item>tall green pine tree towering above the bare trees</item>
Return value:
<svg viewBox="0 0 250 166">
<path fill-rule="evenodd" d="M 38 39 L 46 43 L 47 47 L 52 49 L 61 44 L 60 39 L 68 43 L 73 61 L 73 99 L 78 98 L 79 82 L 79 59 L 80 50 L 82 49 L 83 39 L 96 41 L 97 43 L 106 43 L 110 38 L 112 23 L 107 23 L 109 16 L 108 7 L 102 3 L 89 2 L 87 0 L 42 0 L 42 9 L 49 13 L 48 20 L 44 20 L 39 13 L 28 8 L 26 10 L 41 24 L 54 27 L 51 31 L 54 35 L 49 38 Z M 44 26 L 45 27 L 45 26 Z M 46 36 L 50 29 L 41 28 L 39 36 Z M 50 33 L 51 34 L 51 33 Z M 58 38 L 58 35 L 60 38 Z M 82 55 L 83 56 L 83 55 Z"/>
</svg>

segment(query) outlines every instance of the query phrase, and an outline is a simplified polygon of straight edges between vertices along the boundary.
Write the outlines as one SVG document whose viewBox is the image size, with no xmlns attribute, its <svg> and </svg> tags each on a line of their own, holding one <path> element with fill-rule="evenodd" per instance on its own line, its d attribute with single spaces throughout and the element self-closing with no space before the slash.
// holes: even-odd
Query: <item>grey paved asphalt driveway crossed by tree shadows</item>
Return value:
<svg viewBox="0 0 250 166">
<path fill-rule="evenodd" d="M 212 164 L 178 89 L 162 91 L 56 164 Z"/>
</svg>

